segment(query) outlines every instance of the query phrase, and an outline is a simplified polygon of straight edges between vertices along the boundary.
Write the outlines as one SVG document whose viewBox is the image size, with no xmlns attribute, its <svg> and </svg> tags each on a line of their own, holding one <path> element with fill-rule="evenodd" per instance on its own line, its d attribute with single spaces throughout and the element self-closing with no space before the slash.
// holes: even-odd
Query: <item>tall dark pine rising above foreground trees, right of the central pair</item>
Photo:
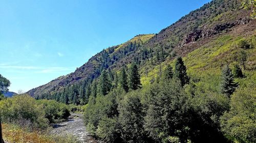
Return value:
<svg viewBox="0 0 256 143">
<path fill-rule="evenodd" d="M 186 66 L 182 58 L 179 56 L 175 63 L 175 77 L 181 81 L 181 85 L 184 86 L 189 82 L 189 77 L 187 76 Z"/>
</svg>

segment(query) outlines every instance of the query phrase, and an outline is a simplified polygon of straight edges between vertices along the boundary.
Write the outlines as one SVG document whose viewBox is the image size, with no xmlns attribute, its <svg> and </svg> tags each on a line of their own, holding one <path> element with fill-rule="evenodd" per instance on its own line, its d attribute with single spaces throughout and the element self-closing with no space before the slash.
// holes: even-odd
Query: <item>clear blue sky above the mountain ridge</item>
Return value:
<svg viewBox="0 0 256 143">
<path fill-rule="evenodd" d="M 0 0 L 0 74 L 11 81 L 10 91 L 28 91 L 208 2 Z"/>
</svg>

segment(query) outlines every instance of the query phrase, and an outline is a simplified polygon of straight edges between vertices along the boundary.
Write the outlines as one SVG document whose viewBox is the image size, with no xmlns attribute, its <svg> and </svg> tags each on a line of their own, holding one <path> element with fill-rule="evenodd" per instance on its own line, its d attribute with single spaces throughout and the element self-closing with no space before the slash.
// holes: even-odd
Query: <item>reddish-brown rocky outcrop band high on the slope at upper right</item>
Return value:
<svg viewBox="0 0 256 143">
<path fill-rule="evenodd" d="M 240 24 L 247 24 L 249 21 L 250 21 L 250 18 L 243 18 L 243 19 L 239 18 L 238 20 L 233 21 L 231 23 L 216 24 L 212 26 L 212 28 L 210 28 L 209 30 L 197 29 L 185 35 L 182 45 L 194 43 L 200 38 L 207 38 L 207 37 L 214 36 L 225 30 L 232 28 L 233 26 L 240 25 Z"/>
</svg>

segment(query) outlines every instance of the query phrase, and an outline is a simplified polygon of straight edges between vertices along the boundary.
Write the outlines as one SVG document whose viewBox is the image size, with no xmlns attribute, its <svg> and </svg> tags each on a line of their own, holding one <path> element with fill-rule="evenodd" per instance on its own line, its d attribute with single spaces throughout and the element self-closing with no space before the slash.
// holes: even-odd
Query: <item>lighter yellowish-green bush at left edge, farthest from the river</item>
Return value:
<svg viewBox="0 0 256 143">
<path fill-rule="evenodd" d="M 44 108 L 29 95 L 16 95 L 1 100 L 0 111 L 3 122 L 30 128 L 46 129 L 48 127 Z"/>
</svg>

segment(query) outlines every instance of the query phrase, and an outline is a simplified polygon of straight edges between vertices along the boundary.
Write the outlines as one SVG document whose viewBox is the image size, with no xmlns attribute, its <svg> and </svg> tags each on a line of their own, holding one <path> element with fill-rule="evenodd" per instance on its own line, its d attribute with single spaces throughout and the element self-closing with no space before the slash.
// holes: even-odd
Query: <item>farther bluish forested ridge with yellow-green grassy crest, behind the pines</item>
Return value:
<svg viewBox="0 0 256 143">
<path fill-rule="evenodd" d="M 153 36 L 154 34 L 137 35 L 123 44 L 104 49 L 89 59 L 86 64 L 77 68 L 73 73 L 60 76 L 45 85 L 32 89 L 28 91 L 28 94 L 35 96 L 47 92 L 56 92 L 60 91 L 63 87 L 67 87 L 68 85 L 77 83 L 83 79 L 98 77 L 102 68 L 108 68 L 121 61 L 123 57 L 129 55 L 134 50 L 137 50 Z M 108 63 L 110 58 L 107 57 L 111 57 L 112 61 L 110 63 Z"/>
</svg>

